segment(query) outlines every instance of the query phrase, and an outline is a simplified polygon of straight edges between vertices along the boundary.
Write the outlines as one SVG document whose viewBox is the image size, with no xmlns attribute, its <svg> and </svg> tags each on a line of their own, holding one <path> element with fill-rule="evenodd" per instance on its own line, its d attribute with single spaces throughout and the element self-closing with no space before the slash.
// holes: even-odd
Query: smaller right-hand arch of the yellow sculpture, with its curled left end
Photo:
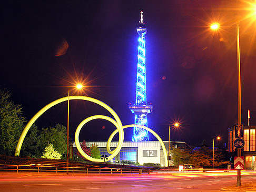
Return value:
<svg viewBox="0 0 256 192">
<path fill-rule="evenodd" d="M 123 128 L 129 128 L 129 127 L 140 127 L 140 128 L 143 128 L 143 129 L 146 129 L 148 130 L 150 133 L 152 133 L 160 142 L 162 148 L 163 148 L 163 153 L 164 153 L 164 161 L 165 161 L 165 166 L 168 166 L 168 159 L 167 159 L 167 151 L 166 151 L 166 148 L 164 146 L 164 143 L 163 143 L 163 140 L 161 139 L 161 137 L 159 137 L 159 135 L 157 135 L 152 129 L 150 129 L 149 127 L 145 127 L 143 125 L 135 125 L 135 124 L 131 124 L 131 125 L 125 125 L 123 126 Z M 118 132 L 117 129 L 114 130 L 114 132 L 110 135 L 109 139 L 107 139 L 107 153 L 109 154 L 112 154 L 112 153 L 115 153 L 117 150 L 117 148 L 115 148 L 113 151 L 110 150 L 110 143 L 113 139 L 113 137 L 115 136 L 115 134 Z"/>
</svg>

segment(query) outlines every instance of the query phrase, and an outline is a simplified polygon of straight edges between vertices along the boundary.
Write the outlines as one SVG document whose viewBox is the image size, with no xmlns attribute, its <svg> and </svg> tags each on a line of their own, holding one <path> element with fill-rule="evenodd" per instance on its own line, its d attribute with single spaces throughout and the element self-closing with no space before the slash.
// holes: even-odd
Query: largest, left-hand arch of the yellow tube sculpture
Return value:
<svg viewBox="0 0 256 192">
<path fill-rule="evenodd" d="M 29 128 L 31 128 L 31 126 L 33 125 L 33 123 L 35 123 L 36 119 L 38 117 L 40 117 L 44 112 L 46 112 L 46 110 L 50 109 L 51 107 L 59 104 L 59 103 L 62 103 L 62 102 L 65 102 L 67 101 L 68 97 L 63 97 L 63 98 L 60 98 L 60 99 L 57 99 L 57 100 L 54 100 L 52 103 L 46 105 L 45 107 L 43 107 L 39 112 L 37 112 L 30 120 L 29 122 L 27 123 L 27 125 L 25 126 L 25 128 L 23 129 L 23 132 L 21 134 L 21 137 L 19 137 L 19 140 L 18 140 L 18 144 L 16 146 L 16 150 L 15 150 L 15 154 L 14 156 L 19 156 L 19 153 L 21 151 L 21 147 L 22 147 L 22 143 L 24 141 L 24 138 L 29 130 Z M 118 130 L 119 130 L 119 143 L 116 147 L 116 151 L 117 153 L 120 151 L 121 147 L 122 147 L 122 144 L 123 144 L 123 140 L 124 140 L 124 132 L 123 132 L 123 125 L 122 125 L 122 122 L 119 118 L 119 116 L 117 116 L 117 114 L 114 112 L 114 110 L 106 105 L 105 103 L 101 102 L 100 100 L 97 100 L 97 99 L 94 99 L 92 97 L 86 97 L 86 96 L 70 96 L 69 98 L 70 100 L 87 100 L 89 102 L 93 102 L 93 103 L 96 103 L 98 105 L 101 105 L 102 107 L 104 107 L 105 109 L 107 109 L 114 117 L 115 119 L 115 126 L 118 127 Z M 89 117 L 90 118 L 90 117 Z M 82 127 L 81 127 L 82 128 Z M 77 146 L 77 145 L 76 145 Z M 80 146 L 80 145 L 79 145 Z M 116 153 L 116 154 L 117 154 Z"/>
</svg>

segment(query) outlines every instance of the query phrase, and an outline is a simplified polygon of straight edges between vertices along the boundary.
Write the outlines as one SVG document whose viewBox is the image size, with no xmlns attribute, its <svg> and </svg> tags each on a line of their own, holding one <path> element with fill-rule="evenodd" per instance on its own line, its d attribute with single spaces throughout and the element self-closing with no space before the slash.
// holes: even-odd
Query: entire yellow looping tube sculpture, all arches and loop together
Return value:
<svg viewBox="0 0 256 192">
<path fill-rule="evenodd" d="M 63 97 L 63 98 L 55 100 L 54 102 L 52 102 L 52 103 L 46 105 L 45 107 L 43 107 L 39 112 L 37 112 L 31 118 L 31 120 L 29 120 L 29 122 L 27 123 L 27 125 L 25 126 L 25 128 L 24 128 L 24 130 L 23 130 L 23 132 L 21 134 L 21 137 L 19 137 L 18 144 L 17 144 L 16 150 L 15 150 L 15 156 L 19 156 L 19 152 L 21 151 L 21 147 L 22 147 L 22 143 L 24 141 L 24 138 L 25 138 L 29 128 L 31 128 L 33 123 L 35 123 L 36 119 L 38 117 L 40 117 L 44 112 L 46 112 L 46 110 L 50 109 L 51 107 L 53 107 L 53 106 L 55 106 L 55 105 L 57 105 L 59 103 L 67 101 L 67 99 L 68 99 L 68 97 Z M 75 144 L 76 144 L 77 150 L 80 152 L 80 154 L 83 157 L 85 157 L 86 159 L 91 160 L 91 161 L 104 162 L 104 159 L 95 159 L 95 158 L 92 158 L 92 157 L 90 157 L 90 156 L 88 156 L 87 154 L 84 153 L 84 151 L 81 148 L 80 143 L 79 143 L 79 134 L 80 134 L 80 130 L 82 129 L 82 127 L 87 122 L 90 122 L 91 120 L 94 120 L 94 119 L 105 119 L 105 120 L 109 120 L 116 127 L 114 132 L 110 135 L 109 139 L 107 140 L 107 145 L 106 145 L 107 152 L 109 154 L 111 154 L 107 160 L 113 159 L 119 153 L 119 151 L 121 150 L 122 145 L 123 145 L 123 140 L 124 140 L 124 131 L 123 131 L 123 129 L 124 128 L 129 128 L 129 127 L 140 127 L 140 128 L 148 130 L 150 133 L 152 133 L 159 140 L 159 142 L 160 142 L 160 144 L 161 144 L 161 146 L 163 148 L 164 159 L 165 159 L 165 166 L 168 165 L 167 152 L 166 152 L 166 148 L 164 146 L 164 143 L 163 143 L 162 139 L 159 137 L 159 135 L 157 135 L 152 129 L 150 129 L 149 127 L 145 127 L 145 126 L 142 126 L 142 125 L 135 125 L 135 124 L 123 126 L 119 116 L 117 116 L 117 114 L 114 112 L 114 110 L 110 106 L 108 106 L 105 103 L 101 102 L 100 100 L 94 99 L 92 97 L 70 96 L 69 99 L 70 100 L 87 100 L 89 102 L 93 102 L 93 103 L 99 104 L 102 107 L 104 107 L 105 109 L 107 109 L 113 115 L 113 117 L 114 117 L 114 119 L 113 119 L 111 117 L 104 116 L 104 115 L 94 115 L 94 116 L 91 116 L 91 117 L 88 117 L 88 118 L 84 119 L 78 125 L 78 127 L 76 128 L 76 132 L 75 132 Z M 115 134 L 117 132 L 119 132 L 119 142 L 118 142 L 116 148 L 111 151 L 110 150 L 110 144 L 111 144 L 111 141 L 112 141 L 113 137 L 115 136 Z"/>
</svg>

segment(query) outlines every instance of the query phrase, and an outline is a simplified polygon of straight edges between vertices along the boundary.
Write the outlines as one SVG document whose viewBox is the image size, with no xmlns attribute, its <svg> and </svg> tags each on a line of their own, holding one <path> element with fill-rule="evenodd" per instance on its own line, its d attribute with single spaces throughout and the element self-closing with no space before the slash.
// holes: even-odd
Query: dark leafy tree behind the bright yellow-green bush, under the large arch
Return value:
<svg viewBox="0 0 256 192">
<path fill-rule="evenodd" d="M 59 153 L 64 154 L 67 150 L 66 133 L 66 127 L 60 124 L 55 125 L 55 127 L 43 128 L 37 142 L 41 148 L 41 153 L 51 143 Z"/>
</svg>

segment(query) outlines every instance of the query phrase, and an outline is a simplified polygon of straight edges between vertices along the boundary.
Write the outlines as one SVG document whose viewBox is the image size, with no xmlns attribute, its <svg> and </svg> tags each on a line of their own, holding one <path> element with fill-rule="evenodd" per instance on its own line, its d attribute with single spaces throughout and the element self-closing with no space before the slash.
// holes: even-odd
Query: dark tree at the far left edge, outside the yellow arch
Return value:
<svg viewBox="0 0 256 192">
<path fill-rule="evenodd" d="M 14 155 L 15 148 L 23 130 L 25 118 L 21 105 L 10 100 L 11 93 L 0 90 L 0 154 Z"/>
</svg>

